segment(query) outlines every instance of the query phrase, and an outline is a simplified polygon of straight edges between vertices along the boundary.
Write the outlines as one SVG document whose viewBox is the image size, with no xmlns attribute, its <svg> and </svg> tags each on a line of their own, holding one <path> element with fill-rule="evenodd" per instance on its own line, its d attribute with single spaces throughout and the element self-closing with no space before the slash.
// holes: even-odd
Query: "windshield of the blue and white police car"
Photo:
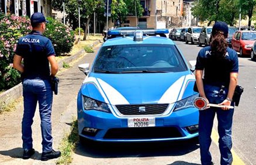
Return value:
<svg viewBox="0 0 256 165">
<path fill-rule="evenodd" d="M 187 67 L 176 46 L 159 44 L 102 47 L 93 72 L 182 72 Z"/>
</svg>

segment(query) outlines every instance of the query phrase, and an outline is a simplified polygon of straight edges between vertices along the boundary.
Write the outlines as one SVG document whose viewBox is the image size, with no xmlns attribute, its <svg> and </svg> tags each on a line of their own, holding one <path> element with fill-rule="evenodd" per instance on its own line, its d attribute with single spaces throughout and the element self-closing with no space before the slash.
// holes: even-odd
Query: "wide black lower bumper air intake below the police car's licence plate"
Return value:
<svg viewBox="0 0 256 165">
<path fill-rule="evenodd" d="M 104 139 L 163 139 L 182 137 L 175 127 L 111 128 Z"/>
</svg>

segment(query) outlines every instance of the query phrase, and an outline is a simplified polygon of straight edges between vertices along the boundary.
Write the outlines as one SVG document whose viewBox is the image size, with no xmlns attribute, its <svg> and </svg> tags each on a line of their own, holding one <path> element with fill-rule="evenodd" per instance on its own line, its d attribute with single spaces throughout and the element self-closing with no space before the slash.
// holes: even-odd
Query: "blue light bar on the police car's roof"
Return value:
<svg viewBox="0 0 256 165">
<path fill-rule="evenodd" d="M 110 30 L 108 35 L 134 35 L 134 32 L 140 31 L 144 35 L 160 35 L 168 34 L 168 29 L 134 29 L 134 30 Z"/>
</svg>

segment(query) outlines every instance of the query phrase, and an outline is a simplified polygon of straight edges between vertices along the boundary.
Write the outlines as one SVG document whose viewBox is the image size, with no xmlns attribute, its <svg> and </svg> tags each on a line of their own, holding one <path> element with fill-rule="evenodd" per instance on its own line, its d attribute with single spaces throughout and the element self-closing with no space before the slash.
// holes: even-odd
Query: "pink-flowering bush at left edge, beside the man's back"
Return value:
<svg viewBox="0 0 256 165">
<path fill-rule="evenodd" d="M 16 44 L 31 31 L 27 17 L 4 16 L 0 13 L 0 91 L 17 85 L 20 73 L 12 67 Z"/>
</svg>

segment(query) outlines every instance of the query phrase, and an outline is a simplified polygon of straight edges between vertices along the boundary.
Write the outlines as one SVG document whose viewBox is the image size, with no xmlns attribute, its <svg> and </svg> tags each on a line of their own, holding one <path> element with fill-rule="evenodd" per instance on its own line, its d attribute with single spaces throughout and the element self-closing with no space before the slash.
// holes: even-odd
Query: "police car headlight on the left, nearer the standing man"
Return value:
<svg viewBox="0 0 256 165">
<path fill-rule="evenodd" d="M 83 107 L 85 110 L 98 110 L 108 113 L 111 112 L 108 107 L 108 104 L 98 100 L 94 100 L 92 98 L 88 98 L 86 96 L 83 96 Z"/>
</svg>

